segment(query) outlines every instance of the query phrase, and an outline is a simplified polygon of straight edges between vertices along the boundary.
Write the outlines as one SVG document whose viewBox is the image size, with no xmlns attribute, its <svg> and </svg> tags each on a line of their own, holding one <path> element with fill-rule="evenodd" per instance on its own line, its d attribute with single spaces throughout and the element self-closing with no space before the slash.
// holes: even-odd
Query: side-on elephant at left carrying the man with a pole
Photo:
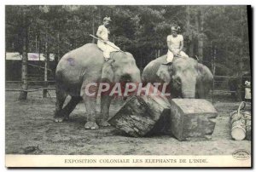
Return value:
<svg viewBox="0 0 256 172">
<path fill-rule="evenodd" d="M 136 61 L 128 52 L 113 52 L 111 60 L 105 61 L 102 50 L 95 43 L 84 46 L 64 54 L 55 70 L 55 122 L 62 122 L 69 118 L 69 114 L 84 101 L 87 110 L 85 129 L 99 129 L 108 126 L 109 106 L 113 96 L 101 96 L 101 119 L 96 121 L 96 96 L 85 94 L 87 84 L 90 83 L 118 83 L 131 81 L 140 83 L 141 74 Z M 92 88 L 92 89 L 91 89 Z M 97 91 L 98 85 L 90 87 L 90 91 Z M 72 98 L 63 106 L 70 95 Z"/>
</svg>

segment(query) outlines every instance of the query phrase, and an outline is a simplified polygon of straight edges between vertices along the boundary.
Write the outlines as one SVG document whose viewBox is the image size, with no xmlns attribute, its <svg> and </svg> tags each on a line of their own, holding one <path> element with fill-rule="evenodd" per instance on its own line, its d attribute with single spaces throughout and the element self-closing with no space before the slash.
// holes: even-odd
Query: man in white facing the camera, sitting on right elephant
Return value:
<svg viewBox="0 0 256 172">
<path fill-rule="evenodd" d="M 183 36 L 177 34 L 177 29 L 179 27 L 172 26 L 172 35 L 168 35 L 167 37 L 167 46 L 168 46 L 168 53 L 166 58 L 166 63 L 164 65 L 168 65 L 172 63 L 174 56 L 182 56 L 189 58 L 188 54 L 183 52 Z"/>
</svg>

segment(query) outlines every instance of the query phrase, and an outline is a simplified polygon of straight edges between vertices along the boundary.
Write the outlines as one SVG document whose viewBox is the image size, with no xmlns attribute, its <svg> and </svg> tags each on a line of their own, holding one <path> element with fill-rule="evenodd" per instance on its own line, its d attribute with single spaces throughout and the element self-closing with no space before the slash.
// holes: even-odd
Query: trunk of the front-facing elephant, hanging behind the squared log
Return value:
<svg viewBox="0 0 256 172">
<path fill-rule="evenodd" d="M 195 81 L 191 79 L 182 81 L 182 96 L 183 98 L 195 98 Z"/>
</svg>

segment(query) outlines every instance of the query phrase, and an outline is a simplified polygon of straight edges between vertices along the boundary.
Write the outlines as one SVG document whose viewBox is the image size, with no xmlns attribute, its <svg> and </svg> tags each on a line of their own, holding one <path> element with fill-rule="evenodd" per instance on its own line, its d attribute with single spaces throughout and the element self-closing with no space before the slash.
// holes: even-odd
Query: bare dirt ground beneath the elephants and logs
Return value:
<svg viewBox="0 0 256 172">
<path fill-rule="evenodd" d="M 54 92 L 50 95 L 51 98 L 43 99 L 41 92 L 34 92 L 29 93 L 28 100 L 19 101 L 19 92 L 6 92 L 6 154 L 230 155 L 238 149 L 251 152 L 251 141 L 230 138 L 229 114 L 239 102 L 229 97 L 214 100 L 218 118 L 212 140 L 179 141 L 170 135 L 133 138 L 113 127 L 85 130 L 86 111 L 82 103 L 69 121 L 55 123 Z M 110 116 L 123 103 L 113 100 Z"/>
</svg>

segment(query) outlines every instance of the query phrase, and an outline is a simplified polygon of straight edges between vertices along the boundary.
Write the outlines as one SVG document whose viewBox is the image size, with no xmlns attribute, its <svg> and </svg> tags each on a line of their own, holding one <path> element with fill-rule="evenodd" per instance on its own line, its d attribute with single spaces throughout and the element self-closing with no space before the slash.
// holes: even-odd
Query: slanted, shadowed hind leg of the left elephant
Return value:
<svg viewBox="0 0 256 172">
<path fill-rule="evenodd" d="M 65 106 L 62 111 L 62 120 L 68 119 L 71 112 L 73 112 L 74 108 L 79 104 L 81 97 L 73 96 L 71 100 L 68 102 L 67 106 Z"/>
</svg>

